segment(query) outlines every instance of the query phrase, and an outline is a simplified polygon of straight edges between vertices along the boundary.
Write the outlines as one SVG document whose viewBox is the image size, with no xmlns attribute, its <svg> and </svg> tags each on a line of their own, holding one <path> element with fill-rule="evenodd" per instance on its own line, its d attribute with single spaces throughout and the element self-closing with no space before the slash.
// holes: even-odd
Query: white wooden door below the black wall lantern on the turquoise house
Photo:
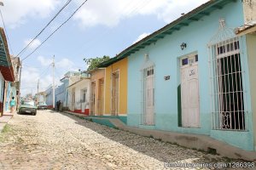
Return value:
<svg viewBox="0 0 256 170">
<path fill-rule="evenodd" d="M 183 127 L 200 127 L 198 64 L 195 57 L 181 66 L 181 100 Z"/>
</svg>

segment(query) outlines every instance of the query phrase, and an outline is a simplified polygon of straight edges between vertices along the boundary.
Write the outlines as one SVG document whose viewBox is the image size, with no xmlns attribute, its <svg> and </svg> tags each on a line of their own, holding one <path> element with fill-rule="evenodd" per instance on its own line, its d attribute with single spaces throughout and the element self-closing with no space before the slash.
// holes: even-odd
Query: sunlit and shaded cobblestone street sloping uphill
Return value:
<svg viewBox="0 0 256 170">
<path fill-rule="evenodd" d="M 227 161 L 53 111 L 15 115 L 0 134 L 1 170 L 208 169 L 207 163 Z M 173 162 L 205 167 L 175 167 Z"/>
</svg>

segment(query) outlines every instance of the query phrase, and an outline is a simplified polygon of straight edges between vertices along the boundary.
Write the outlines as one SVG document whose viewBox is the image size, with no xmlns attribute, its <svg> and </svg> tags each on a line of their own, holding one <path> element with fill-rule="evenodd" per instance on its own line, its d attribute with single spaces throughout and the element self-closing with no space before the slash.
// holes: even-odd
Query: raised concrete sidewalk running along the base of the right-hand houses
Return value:
<svg viewBox="0 0 256 170">
<path fill-rule="evenodd" d="M 229 158 L 242 159 L 247 161 L 256 161 L 256 152 L 241 150 L 230 144 L 226 144 L 220 140 L 212 139 L 210 136 L 201 134 L 190 134 L 190 133 L 175 133 L 170 131 L 162 131 L 155 129 L 145 129 L 139 127 L 129 127 L 119 119 L 115 118 L 101 118 L 101 117 L 90 117 L 81 114 L 76 114 L 71 111 L 64 111 L 67 114 L 79 116 L 86 120 L 96 122 L 99 124 L 107 125 L 108 127 L 119 128 L 124 131 L 136 133 L 138 135 L 146 136 L 149 138 L 159 139 L 163 142 L 169 142 L 172 144 L 178 144 L 186 148 L 195 150 L 204 150 L 207 152 L 215 152 L 220 156 L 226 156 Z M 107 122 L 107 123 L 106 123 Z M 109 124 L 110 123 L 110 124 Z"/>
</svg>

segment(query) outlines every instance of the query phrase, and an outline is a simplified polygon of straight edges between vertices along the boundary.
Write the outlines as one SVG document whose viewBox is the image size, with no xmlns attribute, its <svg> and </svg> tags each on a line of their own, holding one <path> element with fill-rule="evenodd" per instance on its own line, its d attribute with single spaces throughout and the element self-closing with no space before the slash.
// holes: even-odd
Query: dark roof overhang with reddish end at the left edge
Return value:
<svg viewBox="0 0 256 170">
<path fill-rule="evenodd" d="M 9 82 L 15 81 L 13 65 L 9 55 L 7 39 L 3 28 L 0 27 L 0 71 L 4 80 Z"/>
</svg>

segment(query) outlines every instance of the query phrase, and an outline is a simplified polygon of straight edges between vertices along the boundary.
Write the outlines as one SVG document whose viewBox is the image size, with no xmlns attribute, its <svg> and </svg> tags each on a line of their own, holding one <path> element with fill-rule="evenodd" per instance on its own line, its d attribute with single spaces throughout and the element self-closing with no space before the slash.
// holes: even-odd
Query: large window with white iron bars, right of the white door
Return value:
<svg viewBox="0 0 256 170">
<path fill-rule="evenodd" d="M 237 37 L 210 47 L 212 128 L 245 130 L 244 70 Z"/>
</svg>

